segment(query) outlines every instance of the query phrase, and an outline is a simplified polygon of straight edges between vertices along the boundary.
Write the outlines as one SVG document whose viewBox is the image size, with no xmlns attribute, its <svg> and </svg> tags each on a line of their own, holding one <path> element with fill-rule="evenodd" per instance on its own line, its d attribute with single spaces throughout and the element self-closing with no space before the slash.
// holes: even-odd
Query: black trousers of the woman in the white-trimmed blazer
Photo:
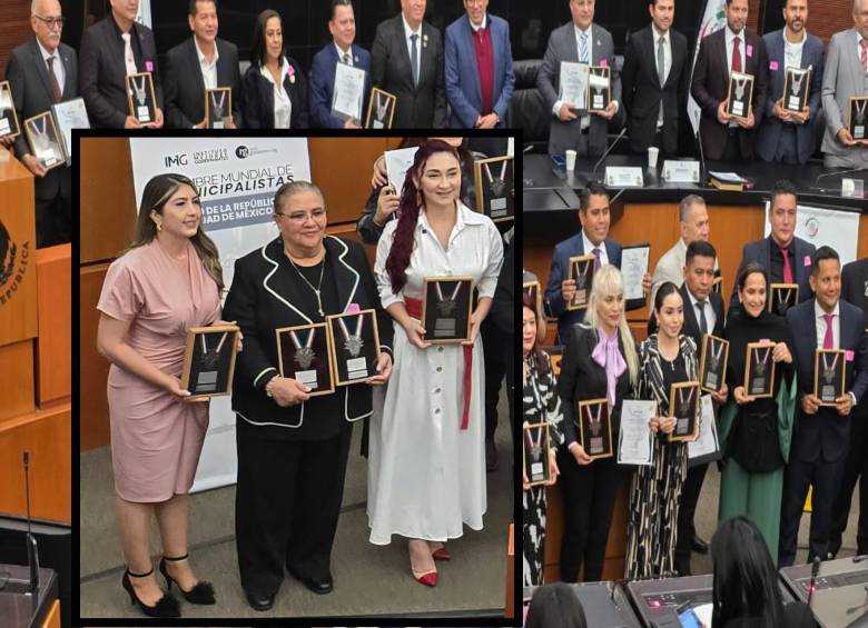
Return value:
<svg viewBox="0 0 868 628">
<path fill-rule="evenodd" d="M 336 438 L 304 441 L 259 438 L 255 430 L 237 431 L 238 569 L 245 590 L 270 596 L 284 565 L 300 577 L 329 574 L 353 430 L 345 423 Z"/>
</svg>

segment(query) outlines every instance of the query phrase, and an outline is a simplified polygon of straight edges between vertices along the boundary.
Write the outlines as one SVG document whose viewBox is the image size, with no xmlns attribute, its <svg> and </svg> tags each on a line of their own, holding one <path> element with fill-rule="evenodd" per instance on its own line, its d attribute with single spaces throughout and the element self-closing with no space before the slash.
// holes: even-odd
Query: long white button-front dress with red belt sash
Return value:
<svg viewBox="0 0 868 628">
<path fill-rule="evenodd" d="M 458 203 L 458 217 L 443 250 L 420 211 L 407 283 L 392 293 L 386 258 L 397 220 L 391 220 L 377 246 L 375 273 L 383 307 L 403 297 L 422 299 L 428 276 L 470 276 L 480 297 L 493 297 L 503 261 L 494 223 Z M 371 419 L 367 512 L 371 542 L 388 545 L 392 535 L 445 541 L 463 526 L 482 529 L 485 512 L 485 370 L 482 339 L 473 347 L 470 425 L 461 429 L 464 348 L 418 349 L 394 323 L 394 367 L 382 413 Z"/>
</svg>

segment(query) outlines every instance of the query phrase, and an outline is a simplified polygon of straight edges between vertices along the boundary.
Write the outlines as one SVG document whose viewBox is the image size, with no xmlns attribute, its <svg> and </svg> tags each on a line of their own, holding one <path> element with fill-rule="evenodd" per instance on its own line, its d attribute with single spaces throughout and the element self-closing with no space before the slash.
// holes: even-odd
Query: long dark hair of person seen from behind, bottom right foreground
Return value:
<svg viewBox="0 0 868 628">
<path fill-rule="evenodd" d="M 783 606 L 778 572 L 756 525 L 747 517 L 732 517 L 718 526 L 711 538 L 714 565 L 712 626 L 733 619 L 751 619 L 757 628 L 783 626 Z"/>
</svg>

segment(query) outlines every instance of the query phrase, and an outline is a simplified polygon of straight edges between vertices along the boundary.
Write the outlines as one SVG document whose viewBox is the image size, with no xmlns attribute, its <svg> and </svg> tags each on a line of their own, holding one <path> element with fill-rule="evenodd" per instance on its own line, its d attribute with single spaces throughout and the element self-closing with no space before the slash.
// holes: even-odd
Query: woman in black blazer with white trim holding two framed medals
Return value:
<svg viewBox="0 0 868 628">
<path fill-rule="evenodd" d="M 274 219 L 280 236 L 235 262 L 224 306 L 224 317 L 244 331 L 233 381 L 235 526 L 241 586 L 256 610 L 274 604 L 284 566 L 314 592 L 332 590 L 329 557 L 352 422 L 371 416 L 371 386 L 385 383 L 392 372 L 392 325 L 379 306 L 367 257 L 362 245 L 325 235 L 319 189 L 307 181 L 284 185 L 275 195 Z M 297 372 L 279 375 L 275 329 L 319 323 L 356 307 L 377 312 L 377 375 L 316 397 L 293 379 Z M 298 358 L 303 347 L 297 342 L 310 347 L 309 333 L 299 331 L 294 339 L 295 361 L 322 378 L 326 369 Z"/>
</svg>

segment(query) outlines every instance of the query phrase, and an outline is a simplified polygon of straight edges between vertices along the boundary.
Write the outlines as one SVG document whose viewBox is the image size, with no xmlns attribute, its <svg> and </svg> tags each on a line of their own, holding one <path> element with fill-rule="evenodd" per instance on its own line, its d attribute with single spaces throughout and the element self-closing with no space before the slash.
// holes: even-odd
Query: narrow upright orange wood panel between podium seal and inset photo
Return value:
<svg viewBox="0 0 868 628">
<path fill-rule="evenodd" d="M 37 251 L 39 279 L 39 338 L 37 369 L 39 405 L 71 395 L 72 389 L 72 293 L 70 245 Z"/>
</svg>

